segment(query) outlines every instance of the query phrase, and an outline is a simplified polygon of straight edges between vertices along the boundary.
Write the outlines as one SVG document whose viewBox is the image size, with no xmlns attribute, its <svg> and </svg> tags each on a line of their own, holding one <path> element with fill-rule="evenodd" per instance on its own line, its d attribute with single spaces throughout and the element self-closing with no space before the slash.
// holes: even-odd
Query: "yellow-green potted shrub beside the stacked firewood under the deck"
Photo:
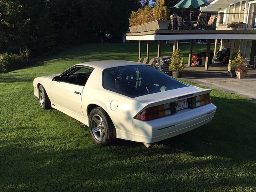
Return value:
<svg viewBox="0 0 256 192">
<path fill-rule="evenodd" d="M 185 68 L 185 65 L 183 63 L 183 56 L 182 52 L 179 49 L 176 49 L 172 53 L 171 62 L 169 64 L 169 70 L 172 71 L 172 76 L 174 78 L 180 78 L 182 75 L 182 71 Z"/>
</svg>

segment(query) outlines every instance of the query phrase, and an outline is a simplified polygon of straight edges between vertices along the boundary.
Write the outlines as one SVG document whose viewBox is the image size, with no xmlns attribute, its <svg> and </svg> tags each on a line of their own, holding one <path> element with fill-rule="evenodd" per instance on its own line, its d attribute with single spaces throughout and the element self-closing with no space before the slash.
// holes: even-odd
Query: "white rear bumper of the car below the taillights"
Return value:
<svg viewBox="0 0 256 192">
<path fill-rule="evenodd" d="M 148 122 L 134 119 L 134 139 L 138 142 L 154 143 L 171 138 L 210 122 L 215 112 L 216 106 L 210 103 Z"/>
</svg>

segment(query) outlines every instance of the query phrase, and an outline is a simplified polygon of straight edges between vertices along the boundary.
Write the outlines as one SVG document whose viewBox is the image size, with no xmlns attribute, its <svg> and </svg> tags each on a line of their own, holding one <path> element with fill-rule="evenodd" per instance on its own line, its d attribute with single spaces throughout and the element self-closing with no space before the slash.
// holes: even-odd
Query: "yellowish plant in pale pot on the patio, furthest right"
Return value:
<svg viewBox="0 0 256 192">
<path fill-rule="evenodd" d="M 240 51 L 238 51 L 234 60 L 231 60 L 230 68 L 236 72 L 236 78 L 244 78 L 246 73 L 248 73 L 248 65 L 246 64 L 248 60 L 250 60 L 250 58 L 244 59 Z"/>
</svg>

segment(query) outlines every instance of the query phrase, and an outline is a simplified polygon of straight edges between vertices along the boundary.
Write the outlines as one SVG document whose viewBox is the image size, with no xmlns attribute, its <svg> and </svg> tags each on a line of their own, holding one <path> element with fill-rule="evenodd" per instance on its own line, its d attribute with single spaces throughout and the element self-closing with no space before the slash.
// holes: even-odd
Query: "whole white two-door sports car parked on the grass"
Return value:
<svg viewBox="0 0 256 192">
<path fill-rule="evenodd" d="M 43 109 L 55 108 L 89 127 L 107 145 L 116 138 L 154 143 L 210 122 L 210 92 L 129 61 L 76 64 L 34 79 Z"/>
</svg>

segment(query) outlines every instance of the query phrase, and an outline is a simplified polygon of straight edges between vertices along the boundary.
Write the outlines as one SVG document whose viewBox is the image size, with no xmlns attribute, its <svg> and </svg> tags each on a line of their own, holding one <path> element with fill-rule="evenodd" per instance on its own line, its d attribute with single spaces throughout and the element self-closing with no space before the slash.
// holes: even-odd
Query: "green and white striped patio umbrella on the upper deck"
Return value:
<svg viewBox="0 0 256 192">
<path fill-rule="evenodd" d="M 175 8 L 190 8 L 190 21 L 191 21 L 191 12 L 192 8 L 198 8 L 202 6 L 210 5 L 205 0 L 181 0 L 176 5 L 174 5 Z"/>
</svg>

